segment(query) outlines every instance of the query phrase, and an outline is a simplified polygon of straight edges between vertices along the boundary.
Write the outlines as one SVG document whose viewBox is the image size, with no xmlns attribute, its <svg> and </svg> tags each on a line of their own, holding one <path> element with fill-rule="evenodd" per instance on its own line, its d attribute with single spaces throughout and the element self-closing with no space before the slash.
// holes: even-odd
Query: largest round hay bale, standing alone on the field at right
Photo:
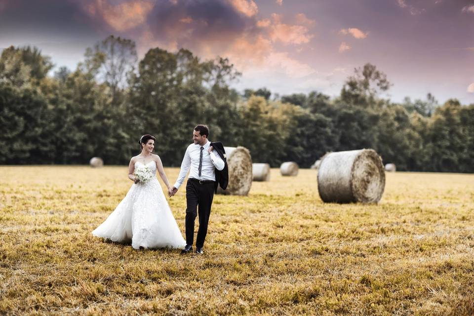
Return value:
<svg viewBox="0 0 474 316">
<path fill-rule="evenodd" d="M 324 202 L 378 202 L 384 188 L 382 159 L 372 149 L 330 153 L 317 173 L 317 189 Z"/>
</svg>

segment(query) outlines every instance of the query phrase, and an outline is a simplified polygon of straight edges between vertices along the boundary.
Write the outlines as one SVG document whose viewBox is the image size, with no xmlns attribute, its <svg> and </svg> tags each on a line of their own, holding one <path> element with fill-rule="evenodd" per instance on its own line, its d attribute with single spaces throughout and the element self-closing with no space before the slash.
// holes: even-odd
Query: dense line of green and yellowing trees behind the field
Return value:
<svg viewBox="0 0 474 316">
<path fill-rule="evenodd" d="M 150 49 L 113 36 L 88 48 L 74 71 L 49 76 L 51 60 L 31 47 L 0 57 L 0 163 L 84 164 L 98 156 L 125 164 L 145 133 L 167 166 L 181 163 L 192 129 L 244 146 L 254 162 L 309 167 L 329 151 L 373 148 L 398 170 L 474 172 L 474 104 L 450 99 L 395 104 L 380 98 L 391 83 L 371 64 L 356 69 L 337 98 L 311 92 L 239 94 L 240 74 L 225 58 Z"/>
</svg>

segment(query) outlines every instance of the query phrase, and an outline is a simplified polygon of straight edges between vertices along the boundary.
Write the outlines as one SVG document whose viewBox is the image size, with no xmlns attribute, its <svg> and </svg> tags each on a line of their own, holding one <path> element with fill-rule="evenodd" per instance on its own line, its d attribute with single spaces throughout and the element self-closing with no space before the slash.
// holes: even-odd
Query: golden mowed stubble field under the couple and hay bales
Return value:
<svg viewBox="0 0 474 316">
<path fill-rule="evenodd" d="M 474 175 L 387 173 L 379 204 L 339 205 L 316 171 L 272 169 L 248 197 L 215 196 L 205 254 L 182 256 L 91 236 L 125 166 L 0 174 L 0 314 L 474 313 Z M 169 199 L 183 235 L 184 189 Z"/>
</svg>

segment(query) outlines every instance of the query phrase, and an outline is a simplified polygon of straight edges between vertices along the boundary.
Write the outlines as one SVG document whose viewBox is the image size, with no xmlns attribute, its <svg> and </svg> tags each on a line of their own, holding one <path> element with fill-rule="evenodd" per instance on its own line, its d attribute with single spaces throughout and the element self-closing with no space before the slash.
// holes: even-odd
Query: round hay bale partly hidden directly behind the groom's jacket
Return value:
<svg viewBox="0 0 474 316">
<path fill-rule="evenodd" d="M 229 185 L 226 190 L 217 188 L 217 193 L 246 196 L 252 186 L 252 158 L 245 147 L 224 147 L 229 166 Z"/>
</svg>

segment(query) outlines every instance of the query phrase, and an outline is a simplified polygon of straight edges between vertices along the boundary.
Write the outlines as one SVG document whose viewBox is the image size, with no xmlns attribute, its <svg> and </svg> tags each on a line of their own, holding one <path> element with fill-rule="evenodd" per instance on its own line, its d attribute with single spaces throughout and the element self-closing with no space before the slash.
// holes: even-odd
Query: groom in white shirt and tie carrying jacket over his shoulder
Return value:
<svg viewBox="0 0 474 316">
<path fill-rule="evenodd" d="M 227 187 L 229 175 L 224 147 L 220 142 L 211 144 L 208 136 L 209 128 L 206 125 L 197 125 L 194 128 L 194 144 L 186 149 L 178 179 L 172 189 L 172 195 L 175 195 L 190 171 L 186 184 L 186 246 L 181 253 L 193 251 L 194 222 L 199 215 L 196 253 L 203 254 L 202 247 L 207 234 L 214 191 L 217 191 L 217 181 L 223 189 Z"/>
</svg>

